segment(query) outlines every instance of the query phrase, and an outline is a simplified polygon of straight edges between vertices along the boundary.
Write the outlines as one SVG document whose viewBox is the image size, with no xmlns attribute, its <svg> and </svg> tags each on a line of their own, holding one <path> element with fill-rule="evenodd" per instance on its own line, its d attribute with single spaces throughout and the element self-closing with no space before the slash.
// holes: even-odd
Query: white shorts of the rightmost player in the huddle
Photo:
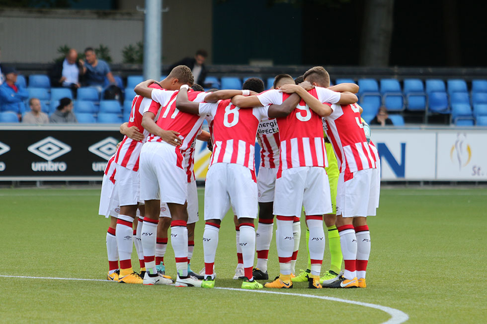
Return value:
<svg viewBox="0 0 487 324">
<path fill-rule="evenodd" d="M 336 188 L 336 214 L 342 217 L 375 216 L 376 192 L 371 191 L 375 182 L 375 169 L 359 170 L 352 179 L 344 181 L 344 172 L 338 177 Z"/>
</svg>

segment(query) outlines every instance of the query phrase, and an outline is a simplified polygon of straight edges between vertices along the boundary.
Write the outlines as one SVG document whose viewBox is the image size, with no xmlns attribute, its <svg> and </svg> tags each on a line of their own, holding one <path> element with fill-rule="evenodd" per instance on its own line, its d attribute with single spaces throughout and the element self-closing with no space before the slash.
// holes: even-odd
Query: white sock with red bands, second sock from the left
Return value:
<svg viewBox="0 0 487 324">
<path fill-rule="evenodd" d="M 115 237 L 117 238 L 118 257 L 121 269 L 132 268 L 132 246 L 134 218 L 127 215 L 118 215 Z"/>
</svg>

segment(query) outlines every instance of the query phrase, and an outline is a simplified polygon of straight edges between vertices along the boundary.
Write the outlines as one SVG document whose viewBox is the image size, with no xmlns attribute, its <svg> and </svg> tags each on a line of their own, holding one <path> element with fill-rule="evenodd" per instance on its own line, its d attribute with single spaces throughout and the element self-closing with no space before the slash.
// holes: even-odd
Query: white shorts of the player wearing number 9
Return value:
<svg viewBox="0 0 487 324">
<path fill-rule="evenodd" d="M 298 167 L 282 170 L 276 179 L 274 215 L 301 216 L 330 214 L 330 185 L 325 168 Z"/>
</svg>

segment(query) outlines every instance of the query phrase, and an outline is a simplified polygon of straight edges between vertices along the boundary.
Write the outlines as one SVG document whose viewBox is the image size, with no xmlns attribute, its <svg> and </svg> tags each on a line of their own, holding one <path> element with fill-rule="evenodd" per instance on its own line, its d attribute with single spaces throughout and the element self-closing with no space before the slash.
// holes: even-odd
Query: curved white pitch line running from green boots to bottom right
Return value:
<svg viewBox="0 0 487 324">
<path fill-rule="evenodd" d="M 409 319 L 409 316 L 407 316 L 406 313 L 404 313 L 400 310 L 391 308 L 391 307 L 386 307 L 386 306 L 381 306 L 381 305 L 376 305 L 376 304 L 370 304 L 370 303 L 356 302 L 353 300 L 346 300 L 346 299 L 335 298 L 335 297 L 316 296 L 316 295 L 307 295 L 307 294 L 295 294 L 295 293 L 284 293 L 284 292 L 269 291 L 269 290 L 246 290 L 246 289 L 225 288 L 225 287 L 215 287 L 215 289 L 247 291 L 247 292 L 256 292 L 256 293 L 262 293 L 262 294 L 277 294 L 277 295 L 290 295 L 290 296 L 299 296 L 299 297 L 308 297 L 308 298 L 318 298 L 318 299 L 330 300 L 333 302 L 340 302 L 340 303 L 347 303 L 347 304 L 353 304 L 353 305 L 375 308 L 375 309 L 378 309 L 380 311 L 386 312 L 389 315 L 391 315 L 391 318 L 389 319 L 389 321 L 384 322 L 384 324 L 399 324 L 399 323 L 404 323 Z"/>
</svg>

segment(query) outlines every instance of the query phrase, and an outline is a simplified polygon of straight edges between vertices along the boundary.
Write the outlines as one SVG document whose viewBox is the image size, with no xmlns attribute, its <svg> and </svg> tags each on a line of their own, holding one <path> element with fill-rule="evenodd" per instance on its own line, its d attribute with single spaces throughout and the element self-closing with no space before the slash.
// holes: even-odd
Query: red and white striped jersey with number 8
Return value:
<svg viewBox="0 0 487 324">
<path fill-rule="evenodd" d="M 200 114 L 210 116 L 213 153 L 210 167 L 214 163 L 235 163 L 255 170 L 255 135 L 259 122 L 267 118 L 266 107 L 241 109 L 230 99 L 218 103 L 202 103 Z"/>
</svg>

